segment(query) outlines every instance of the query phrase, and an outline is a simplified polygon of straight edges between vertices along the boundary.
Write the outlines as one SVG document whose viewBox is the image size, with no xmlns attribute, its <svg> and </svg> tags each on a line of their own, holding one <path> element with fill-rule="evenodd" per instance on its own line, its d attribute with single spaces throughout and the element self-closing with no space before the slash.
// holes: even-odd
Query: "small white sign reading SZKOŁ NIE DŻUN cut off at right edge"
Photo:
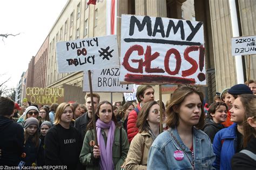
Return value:
<svg viewBox="0 0 256 170">
<path fill-rule="evenodd" d="M 256 36 L 232 38 L 232 56 L 256 54 Z"/>
</svg>

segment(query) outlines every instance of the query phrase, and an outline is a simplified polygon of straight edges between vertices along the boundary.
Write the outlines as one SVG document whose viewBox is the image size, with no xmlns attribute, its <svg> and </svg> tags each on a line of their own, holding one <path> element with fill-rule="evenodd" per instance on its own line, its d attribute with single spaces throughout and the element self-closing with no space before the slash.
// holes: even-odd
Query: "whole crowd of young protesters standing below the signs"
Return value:
<svg viewBox="0 0 256 170">
<path fill-rule="evenodd" d="M 1 97 L 0 165 L 256 169 L 255 81 L 224 89 L 207 107 L 203 93 L 191 85 L 178 86 L 165 105 L 154 100 L 150 85 L 140 85 L 136 97 L 138 104 L 113 105 L 89 93 L 84 105 L 50 107 L 29 102 L 20 107 Z"/>
</svg>

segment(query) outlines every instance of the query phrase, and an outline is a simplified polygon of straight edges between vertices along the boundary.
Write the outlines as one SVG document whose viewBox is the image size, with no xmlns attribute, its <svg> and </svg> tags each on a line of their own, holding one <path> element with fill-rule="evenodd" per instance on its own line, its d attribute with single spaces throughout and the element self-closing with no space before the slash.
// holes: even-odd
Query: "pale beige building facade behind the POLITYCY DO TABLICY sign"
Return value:
<svg viewBox="0 0 256 170">
<path fill-rule="evenodd" d="M 80 5 L 79 5 L 80 4 Z M 104 36 L 106 34 L 106 10 L 105 1 L 96 5 L 86 5 L 85 0 L 70 0 L 60 13 L 56 23 L 49 33 L 49 59 L 47 83 L 48 87 L 59 87 L 69 84 L 82 87 L 83 73 L 58 73 L 56 60 L 56 43 L 66 40 L 82 39 L 88 37 Z M 80 17 L 78 17 L 78 6 L 80 6 Z M 95 23 L 95 11 L 98 10 L 97 25 Z M 73 13 L 73 24 L 71 23 Z M 90 16 L 90 17 L 89 17 Z M 85 35 L 85 21 L 87 19 L 87 35 Z M 65 22 L 68 29 L 65 32 Z M 72 25 L 72 26 L 71 26 Z M 77 30 L 79 33 L 77 34 Z"/>
</svg>

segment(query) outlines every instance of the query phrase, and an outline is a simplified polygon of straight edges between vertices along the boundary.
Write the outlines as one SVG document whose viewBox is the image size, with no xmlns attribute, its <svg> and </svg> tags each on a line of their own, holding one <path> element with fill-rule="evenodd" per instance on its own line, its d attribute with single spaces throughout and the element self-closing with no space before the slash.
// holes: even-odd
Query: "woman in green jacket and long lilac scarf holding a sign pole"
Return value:
<svg viewBox="0 0 256 170">
<path fill-rule="evenodd" d="M 129 142 L 125 130 L 117 126 L 109 101 L 102 101 L 97 106 L 97 134 L 93 131 L 92 122 L 87 128 L 89 131 L 84 138 L 80 162 L 86 169 L 120 169 L 129 150 Z M 93 145 L 95 136 L 99 146 Z"/>
</svg>

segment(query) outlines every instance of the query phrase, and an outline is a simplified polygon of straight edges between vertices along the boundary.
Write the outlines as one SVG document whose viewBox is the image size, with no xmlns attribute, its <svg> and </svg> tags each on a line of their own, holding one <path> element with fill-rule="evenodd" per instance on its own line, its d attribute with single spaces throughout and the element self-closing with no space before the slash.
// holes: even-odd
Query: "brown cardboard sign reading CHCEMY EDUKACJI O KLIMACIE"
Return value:
<svg viewBox="0 0 256 170">
<path fill-rule="evenodd" d="M 63 88 L 41 88 L 41 87 L 27 87 L 26 98 L 33 104 L 37 105 L 51 105 L 53 103 L 64 102 Z"/>
</svg>

